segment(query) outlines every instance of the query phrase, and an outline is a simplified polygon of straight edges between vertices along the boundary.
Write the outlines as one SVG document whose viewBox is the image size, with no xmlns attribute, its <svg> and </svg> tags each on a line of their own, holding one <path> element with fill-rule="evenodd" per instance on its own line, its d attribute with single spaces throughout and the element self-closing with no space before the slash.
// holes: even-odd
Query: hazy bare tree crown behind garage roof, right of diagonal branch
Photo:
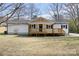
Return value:
<svg viewBox="0 0 79 59">
<path fill-rule="evenodd" d="M 18 19 L 21 16 L 28 16 L 30 19 L 33 19 L 39 15 L 39 9 L 36 7 L 35 4 L 30 3 L 30 4 L 23 4 L 14 14 L 13 17 L 17 17 Z"/>
</svg>

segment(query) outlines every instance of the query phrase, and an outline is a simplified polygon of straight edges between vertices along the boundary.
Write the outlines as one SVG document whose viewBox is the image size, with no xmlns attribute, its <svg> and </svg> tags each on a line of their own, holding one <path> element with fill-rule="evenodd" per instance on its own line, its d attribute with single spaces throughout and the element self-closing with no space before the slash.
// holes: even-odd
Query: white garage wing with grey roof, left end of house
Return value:
<svg viewBox="0 0 79 59">
<path fill-rule="evenodd" d="M 28 20 L 8 20 L 7 32 L 8 34 L 28 34 Z"/>
</svg>

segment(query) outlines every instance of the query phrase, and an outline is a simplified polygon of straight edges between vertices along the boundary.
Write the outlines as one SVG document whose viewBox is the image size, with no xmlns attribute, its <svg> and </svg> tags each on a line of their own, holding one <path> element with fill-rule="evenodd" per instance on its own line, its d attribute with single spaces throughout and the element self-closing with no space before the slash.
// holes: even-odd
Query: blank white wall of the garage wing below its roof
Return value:
<svg viewBox="0 0 79 59">
<path fill-rule="evenodd" d="M 28 25 L 27 24 L 14 24 L 8 25 L 8 34 L 28 34 Z"/>
</svg>

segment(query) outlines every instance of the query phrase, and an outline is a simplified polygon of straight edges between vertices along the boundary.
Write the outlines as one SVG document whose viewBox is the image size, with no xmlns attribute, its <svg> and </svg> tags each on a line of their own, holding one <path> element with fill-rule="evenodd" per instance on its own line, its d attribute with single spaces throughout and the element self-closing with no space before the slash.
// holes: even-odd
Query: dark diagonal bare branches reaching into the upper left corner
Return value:
<svg viewBox="0 0 79 59">
<path fill-rule="evenodd" d="M 16 5 L 16 7 L 13 7 L 12 5 Z M 20 6 L 22 5 L 22 3 L 17 3 L 17 4 L 2 4 L 0 7 L 1 7 L 1 9 L 0 9 L 0 13 L 1 12 L 5 12 L 6 10 L 6 12 L 4 13 L 4 17 L 7 17 L 7 19 L 6 20 L 3 20 L 3 21 L 1 21 L 0 22 L 0 24 L 2 24 L 2 23 L 4 23 L 4 22 L 6 22 L 7 20 L 9 20 L 14 14 L 15 14 L 15 12 L 20 8 Z M 4 6 L 4 8 L 3 8 L 3 6 Z M 12 6 L 12 7 L 10 7 L 10 6 Z M 10 8 L 9 8 L 10 7 Z M 4 18 L 3 17 L 3 18 Z"/>
</svg>

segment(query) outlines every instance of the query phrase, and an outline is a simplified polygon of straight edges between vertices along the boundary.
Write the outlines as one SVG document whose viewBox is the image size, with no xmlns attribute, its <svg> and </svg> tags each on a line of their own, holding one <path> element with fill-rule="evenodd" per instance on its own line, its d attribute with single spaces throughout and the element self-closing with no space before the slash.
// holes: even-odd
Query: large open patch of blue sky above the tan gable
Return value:
<svg viewBox="0 0 79 59">
<path fill-rule="evenodd" d="M 50 15 L 48 13 L 48 8 L 49 8 L 49 3 L 37 3 L 35 4 L 37 8 L 40 9 L 41 15 L 42 17 L 45 18 L 50 18 Z"/>
</svg>

